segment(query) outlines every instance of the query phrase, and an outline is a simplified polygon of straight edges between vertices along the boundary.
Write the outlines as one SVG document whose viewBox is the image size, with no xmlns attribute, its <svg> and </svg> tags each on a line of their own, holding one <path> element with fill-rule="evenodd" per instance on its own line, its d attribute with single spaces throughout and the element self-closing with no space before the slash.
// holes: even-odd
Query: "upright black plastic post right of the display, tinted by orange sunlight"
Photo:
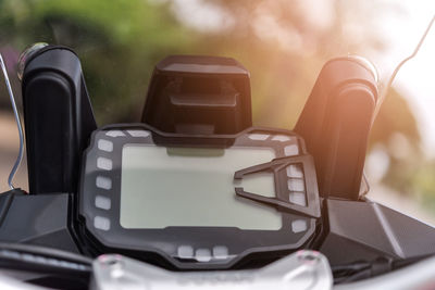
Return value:
<svg viewBox="0 0 435 290">
<path fill-rule="evenodd" d="M 323 66 L 295 127 L 314 156 L 322 197 L 359 199 L 376 101 L 375 72 L 358 59 Z"/>
</svg>

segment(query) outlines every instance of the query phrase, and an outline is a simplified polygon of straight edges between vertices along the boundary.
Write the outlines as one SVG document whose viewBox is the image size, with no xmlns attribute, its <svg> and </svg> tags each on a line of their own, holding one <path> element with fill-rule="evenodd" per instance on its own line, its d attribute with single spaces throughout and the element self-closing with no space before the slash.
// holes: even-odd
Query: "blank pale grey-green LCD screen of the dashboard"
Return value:
<svg viewBox="0 0 435 290">
<path fill-rule="evenodd" d="M 236 197 L 235 186 L 274 196 L 273 175 L 235 184 L 236 171 L 270 162 L 270 148 L 165 148 L 125 144 L 122 152 L 121 213 L 124 228 L 237 227 L 278 230 L 273 207 Z"/>
</svg>

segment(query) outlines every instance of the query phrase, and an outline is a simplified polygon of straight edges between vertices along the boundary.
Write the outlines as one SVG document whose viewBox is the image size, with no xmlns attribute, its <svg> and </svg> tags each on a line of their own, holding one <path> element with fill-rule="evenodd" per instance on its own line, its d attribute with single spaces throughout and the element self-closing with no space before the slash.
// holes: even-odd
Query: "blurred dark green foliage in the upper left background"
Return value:
<svg viewBox="0 0 435 290">
<path fill-rule="evenodd" d="M 137 122 L 153 65 L 187 51 L 192 35 L 164 4 L 141 0 L 10 0 L 3 39 L 23 50 L 46 41 L 79 55 L 100 124 Z"/>
</svg>

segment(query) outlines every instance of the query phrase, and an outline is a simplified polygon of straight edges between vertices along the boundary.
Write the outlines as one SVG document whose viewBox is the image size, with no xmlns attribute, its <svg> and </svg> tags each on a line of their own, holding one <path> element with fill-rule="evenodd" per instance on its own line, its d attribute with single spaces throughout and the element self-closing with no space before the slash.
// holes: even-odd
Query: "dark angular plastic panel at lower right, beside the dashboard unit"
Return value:
<svg viewBox="0 0 435 290">
<path fill-rule="evenodd" d="M 375 202 L 327 200 L 327 234 L 320 251 L 330 263 L 435 253 L 435 228 Z"/>
</svg>

